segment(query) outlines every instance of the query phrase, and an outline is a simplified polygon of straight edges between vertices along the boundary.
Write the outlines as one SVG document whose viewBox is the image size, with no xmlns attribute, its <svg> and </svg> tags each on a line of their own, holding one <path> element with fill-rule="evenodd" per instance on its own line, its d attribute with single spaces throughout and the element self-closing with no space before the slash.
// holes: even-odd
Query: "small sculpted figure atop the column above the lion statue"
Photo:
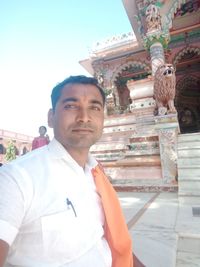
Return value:
<svg viewBox="0 0 200 267">
<path fill-rule="evenodd" d="M 161 30 L 161 16 L 159 8 L 150 4 L 146 9 L 147 32 Z"/>
</svg>

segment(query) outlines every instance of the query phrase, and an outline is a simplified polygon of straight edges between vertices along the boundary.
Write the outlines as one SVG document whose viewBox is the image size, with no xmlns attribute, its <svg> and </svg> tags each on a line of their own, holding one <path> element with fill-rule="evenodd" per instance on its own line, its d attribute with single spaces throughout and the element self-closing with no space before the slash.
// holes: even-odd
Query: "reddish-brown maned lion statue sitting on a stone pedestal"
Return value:
<svg viewBox="0 0 200 267">
<path fill-rule="evenodd" d="M 154 115 L 176 113 L 174 98 L 176 93 L 176 76 L 172 64 L 158 67 L 154 76 L 153 98 L 156 101 Z"/>
</svg>

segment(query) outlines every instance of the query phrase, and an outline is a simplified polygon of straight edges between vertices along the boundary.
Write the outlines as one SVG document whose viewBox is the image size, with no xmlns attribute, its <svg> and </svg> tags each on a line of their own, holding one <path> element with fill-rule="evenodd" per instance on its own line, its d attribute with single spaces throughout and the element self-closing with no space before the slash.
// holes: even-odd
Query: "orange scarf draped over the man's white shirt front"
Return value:
<svg viewBox="0 0 200 267">
<path fill-rule="evenodd" d="M 112 267 L 134 267 L 132 242 L 119 200 L 101 166 L 92 169 L 105 213 L 105 238 L 112 252 Z"/>
</svg>

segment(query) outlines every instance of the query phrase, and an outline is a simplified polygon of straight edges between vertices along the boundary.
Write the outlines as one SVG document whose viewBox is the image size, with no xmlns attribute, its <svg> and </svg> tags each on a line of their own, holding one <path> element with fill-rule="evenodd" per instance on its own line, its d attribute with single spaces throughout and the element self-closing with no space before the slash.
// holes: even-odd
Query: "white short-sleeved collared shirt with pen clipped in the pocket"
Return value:
<svg viewBox="0 0 200 267">
<path fill-rule="evenodd" d="M 55 139 L 0 170 L 6 267 L 111 267 L 104 213 L 91 174 Z M 8 264 L 9 263 L 9 264 Z"/>
</svg>

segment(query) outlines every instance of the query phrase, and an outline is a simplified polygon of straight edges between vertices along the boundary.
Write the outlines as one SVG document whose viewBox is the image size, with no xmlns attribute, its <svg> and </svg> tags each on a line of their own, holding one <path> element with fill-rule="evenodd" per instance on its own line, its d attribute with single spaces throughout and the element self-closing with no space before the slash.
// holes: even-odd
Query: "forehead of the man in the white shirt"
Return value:
<svg viewBox="0 0 200 267">
<path fill-rule="evenodd" d="M 75 97 L 77 99 L 98 99 L 103 103 L 99 89 L 92 84 L 67 84 L 63 87 L 60 98 Z"/>
</svg>

